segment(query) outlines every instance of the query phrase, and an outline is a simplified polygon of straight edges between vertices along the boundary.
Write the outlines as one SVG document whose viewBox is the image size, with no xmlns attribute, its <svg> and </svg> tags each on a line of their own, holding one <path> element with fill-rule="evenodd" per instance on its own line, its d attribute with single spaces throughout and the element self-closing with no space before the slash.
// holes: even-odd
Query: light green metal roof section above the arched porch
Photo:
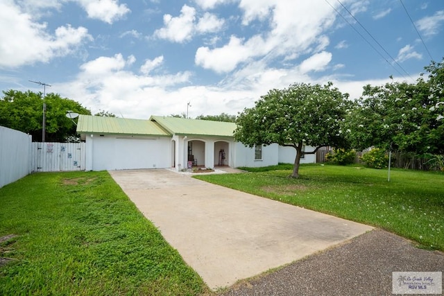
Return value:
<svg viewBox="0 0 444 296">
<path fill-rule="evenodd" d="M 155 121 L 171 134 L 196 135 L 206 137 L 233 137 L 236 123 L 222 121 L 208 121 L 199 119 L 183 119 L 178 117 L 151 116 Z"/>
</svg>

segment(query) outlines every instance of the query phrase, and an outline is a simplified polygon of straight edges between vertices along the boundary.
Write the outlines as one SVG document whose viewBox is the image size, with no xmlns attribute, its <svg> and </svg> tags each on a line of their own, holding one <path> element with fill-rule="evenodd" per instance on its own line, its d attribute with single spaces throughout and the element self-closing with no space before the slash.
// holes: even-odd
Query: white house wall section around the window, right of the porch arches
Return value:
<svg viewBox="0 0 444 296">
<path fill-rule="evenodd" d="M 262 159 L 255 160 L 255 149 L 248 148 L 242 143 L 234 143 L 234 163 L 232 166 L 274 166 L 278 164 L 278 144 L 271 144 L 262 147 Z"/>
</svg>

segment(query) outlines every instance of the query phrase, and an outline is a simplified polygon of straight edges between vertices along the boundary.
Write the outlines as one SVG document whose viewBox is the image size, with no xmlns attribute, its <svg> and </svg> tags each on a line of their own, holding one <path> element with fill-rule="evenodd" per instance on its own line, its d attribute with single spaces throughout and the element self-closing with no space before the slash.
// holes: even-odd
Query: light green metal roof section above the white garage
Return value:
<svg viewBox="0 0 444 296">
<path fill-rule="evenodd" d="M 78 116 L 79 134 L 125 134 L 137 136 L 171 137 L 153 121 L 143 119 L 122 119 L 105 116 Z"/>
</svg>

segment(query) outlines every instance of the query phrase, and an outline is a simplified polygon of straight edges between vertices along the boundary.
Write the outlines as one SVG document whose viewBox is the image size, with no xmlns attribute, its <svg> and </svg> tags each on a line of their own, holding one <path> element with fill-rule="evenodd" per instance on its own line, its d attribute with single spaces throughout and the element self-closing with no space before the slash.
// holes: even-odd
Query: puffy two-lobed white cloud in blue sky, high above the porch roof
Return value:
<svg viewBox="0 0 444 296">
<path fill-rule="evenodd" d="M 196 23 L 197 19 L 197 23 Z M 187 42 L 195 34 L 214 33 L 219 31 L 225 21 L 216 15 L 205 12 L 203 17 L 196 17 L 196 9 L 184 5 L 178 17 L 164 15 L 164 27 L 154 32 L 155 37 L 171 42 Z"/>
</svg>

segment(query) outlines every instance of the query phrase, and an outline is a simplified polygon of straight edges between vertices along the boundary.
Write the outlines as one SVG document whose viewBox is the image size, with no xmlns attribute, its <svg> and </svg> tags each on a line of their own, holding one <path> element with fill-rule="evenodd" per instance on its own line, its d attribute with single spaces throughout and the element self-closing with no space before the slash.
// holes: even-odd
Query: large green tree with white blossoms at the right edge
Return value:
<svg viewBox="0 0 444 296">
<path fill-rule="evenodd" d="M 444 154 L 444 63 L 432 62 L 416 83 L 366 85 L 343 128 L 354 148 Z"/>
</svg>

